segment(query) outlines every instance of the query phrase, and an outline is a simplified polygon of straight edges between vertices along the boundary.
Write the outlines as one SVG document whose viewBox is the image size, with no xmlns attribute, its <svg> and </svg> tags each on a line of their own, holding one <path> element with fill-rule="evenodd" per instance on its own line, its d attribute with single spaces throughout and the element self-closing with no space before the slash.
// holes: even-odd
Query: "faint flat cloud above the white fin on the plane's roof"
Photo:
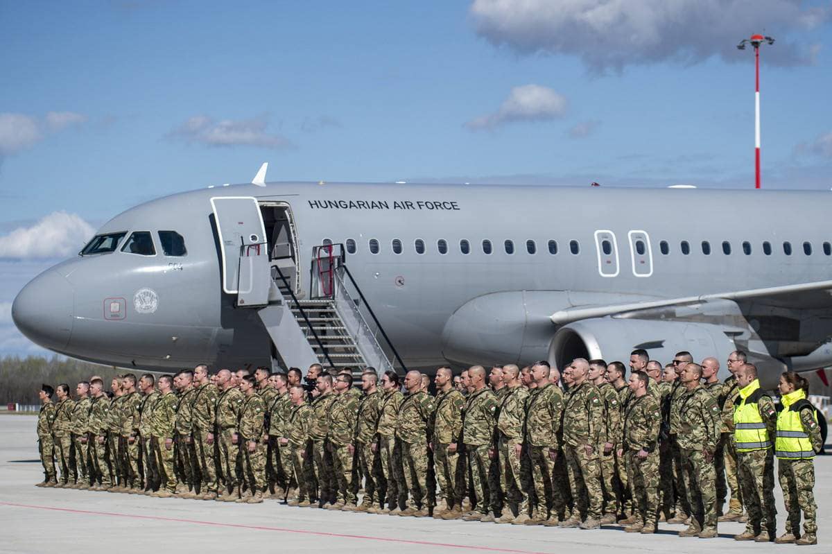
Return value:
<svg viewBox="0 0 832 554">
<path fill-rule="evenodd" d="M 167 136 L 207 146 L 259 146 L 275 149 L 292 146 L 284 136 L 266 132 L 266 126 L 268 121 L 265 116 L 240 121 L 214 121 L 209 116 L 193 116 Z"/>
</svg>

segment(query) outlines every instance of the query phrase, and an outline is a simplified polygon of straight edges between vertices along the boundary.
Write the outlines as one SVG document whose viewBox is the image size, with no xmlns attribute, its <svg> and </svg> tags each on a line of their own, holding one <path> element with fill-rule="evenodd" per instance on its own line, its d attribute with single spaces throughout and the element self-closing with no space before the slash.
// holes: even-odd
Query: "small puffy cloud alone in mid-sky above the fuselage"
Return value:
<svg viewBox="0 0 832 554">
<path fill-rule="evenodd" d="M 563 116 L 567 99 L 540 85 L 514 87 L 498 111 L 479 116 L 465 124 L 472 131 L 493 129 L 516 121 L 551 121 Z"/>
</svg>

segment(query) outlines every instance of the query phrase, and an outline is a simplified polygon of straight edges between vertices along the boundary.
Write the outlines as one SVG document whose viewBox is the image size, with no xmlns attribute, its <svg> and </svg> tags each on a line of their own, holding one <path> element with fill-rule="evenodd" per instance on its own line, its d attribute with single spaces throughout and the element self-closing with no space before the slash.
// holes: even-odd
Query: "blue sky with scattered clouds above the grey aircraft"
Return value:
<svg viewBox="0 0 832 554">
<path fill-rule="evenodd" d="M 17 291 L 207 185 L 832 188 L 829 0 L 0 0 L 0 354 Z"/>
</svg>

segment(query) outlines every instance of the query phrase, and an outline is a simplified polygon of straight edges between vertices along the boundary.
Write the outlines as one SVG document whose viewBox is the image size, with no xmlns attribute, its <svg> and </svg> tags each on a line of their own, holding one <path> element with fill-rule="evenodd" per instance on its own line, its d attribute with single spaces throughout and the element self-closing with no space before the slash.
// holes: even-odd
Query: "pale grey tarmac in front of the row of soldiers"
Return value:
<svg viewBox="0 0 832 554">
<path fill-rule="evenodd" d="M 234 504 L 38 488 L 36 416 L 0 415 L 0 552 L 792 552 L 794 545 L 736 542 L 745 525 L 721 523 L 714 539 L 391 517 L 288 507 L 276 500 Z M 832 552 L 832 456 L 815 458 L 818 541 Z M 785 527 L 780 487 L 778 532 Z"/>
</svg>

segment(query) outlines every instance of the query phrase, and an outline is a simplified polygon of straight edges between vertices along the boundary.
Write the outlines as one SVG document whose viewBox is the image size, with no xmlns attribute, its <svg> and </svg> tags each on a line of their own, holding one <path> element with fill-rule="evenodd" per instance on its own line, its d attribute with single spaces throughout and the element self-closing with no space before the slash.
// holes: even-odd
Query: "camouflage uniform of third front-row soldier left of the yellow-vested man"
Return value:
<svg viewBox="0 0 832 554">
<path fill-rule="evenodd" d="M 572 518 L 600 520 L 603 492 L 597 444 L 604 428 L 604 403 L 598 388 L 588 381 L 572 388 L 563 413 L 563 450 L 575 504 Z M 587 445 L 592 453 L 587 454 Z"/>
</svg>

